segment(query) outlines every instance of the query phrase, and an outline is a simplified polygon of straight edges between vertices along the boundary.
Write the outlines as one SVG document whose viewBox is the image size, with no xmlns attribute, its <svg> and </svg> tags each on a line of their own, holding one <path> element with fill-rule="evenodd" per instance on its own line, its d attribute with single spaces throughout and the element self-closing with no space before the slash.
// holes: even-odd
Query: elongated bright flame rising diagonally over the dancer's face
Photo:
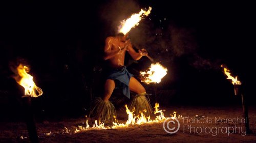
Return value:
<svg viewBox="0 0 256 143">
<path fill-rule="evenodd" d="M 127 34 L 132 27 L 139 25 L 140 20 L 143 18 L 142 14 L 145 16 L 148 16 L 148 14 L 151 13 L 152 7 L 148 7 L 147 11 L 144 11 L 143 9 L 140 10 L 139 13 L 134 13 L 132 16 L 126 20 L 121 21 L 121 25 L 118 26 L 119 33 L 123 33 L 124 35 Z"/>
</svg>

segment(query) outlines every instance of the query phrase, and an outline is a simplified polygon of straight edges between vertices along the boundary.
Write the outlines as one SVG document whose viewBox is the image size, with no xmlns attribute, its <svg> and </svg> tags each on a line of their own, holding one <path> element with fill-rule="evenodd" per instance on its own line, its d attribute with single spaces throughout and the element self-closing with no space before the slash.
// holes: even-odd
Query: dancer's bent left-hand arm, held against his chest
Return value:
<svg viewBox="0 0 256 143">
<path fill-rule="evenodd" d="M 120 51 L 120 49 L 112 50 L 111 46 L 112 46 L 112 39 L 111 39 L 111 37 L 108 37 L 105 40 L 104 56 L 103 56 L 104 60 L 109 60 L 110 58 L 115 56 Z"/>
</svg>

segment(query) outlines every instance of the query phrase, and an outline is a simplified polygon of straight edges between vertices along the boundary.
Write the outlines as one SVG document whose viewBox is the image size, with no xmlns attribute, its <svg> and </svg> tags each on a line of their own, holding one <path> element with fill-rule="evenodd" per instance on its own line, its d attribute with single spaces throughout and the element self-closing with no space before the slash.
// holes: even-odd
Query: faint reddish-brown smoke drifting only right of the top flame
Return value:
<svg viewBox="0 0 256 143">
<path fill-rule="evenodd" d="M 194 28 L 180 27 L 170 21 L 163 25 L 154 24 L 153 20 L 155 23 L 155 19 L 145 19 L 131 30 L 130 37 L 135 47 L 146 48 L 157 61 L 171 62 L 175 58 L 184 58 L 196 69 L 220 68 L 220 60 L 200 55 L 200 48 L 205 47 L 198 45 Z"/>
</svg>

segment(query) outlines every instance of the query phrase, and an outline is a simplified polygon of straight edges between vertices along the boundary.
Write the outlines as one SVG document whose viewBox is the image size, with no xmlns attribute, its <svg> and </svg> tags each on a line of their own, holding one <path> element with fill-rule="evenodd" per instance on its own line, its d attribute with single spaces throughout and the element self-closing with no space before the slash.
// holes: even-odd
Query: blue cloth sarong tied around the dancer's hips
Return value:
<svg viewBox="0 0 256 143">
<path fill-rule="evenodd" d="M 122 88 L 123 94 L 130 99 L 129 83 L 133 74 L 129 73 L 125 66 L 121 69 L 111 69 L 107 79 L 112 79 L 116 83 L 116 88 Z"/>
</svg>

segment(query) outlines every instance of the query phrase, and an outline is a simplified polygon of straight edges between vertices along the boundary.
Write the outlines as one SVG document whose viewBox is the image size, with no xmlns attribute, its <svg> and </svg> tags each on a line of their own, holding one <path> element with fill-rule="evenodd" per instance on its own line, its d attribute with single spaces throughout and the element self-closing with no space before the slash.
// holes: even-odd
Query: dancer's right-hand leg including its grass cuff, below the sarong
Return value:
<svg viewBox="0 0 256 143">
<path fill-rule="evenodd" d="M 135 115 L 140 115 L 140 111 L 146 110 L 145 115 L 150 116 L 153 113 L 150 101 L 146 97 L 146 90 L 141 83 L 134 77 L 130 79 L 129 88 L 136 93 L 130 102 L 130 109 L 135 108 Z"/>
</svg>

